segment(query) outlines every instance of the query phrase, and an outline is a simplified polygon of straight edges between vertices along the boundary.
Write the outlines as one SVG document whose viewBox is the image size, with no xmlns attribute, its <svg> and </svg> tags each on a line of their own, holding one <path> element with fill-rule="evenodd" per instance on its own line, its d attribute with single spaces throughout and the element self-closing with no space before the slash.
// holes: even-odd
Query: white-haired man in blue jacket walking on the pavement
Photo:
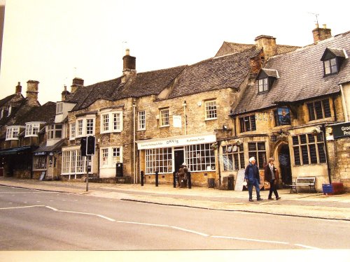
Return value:
<svg viewBox="0 0 350 262">
<path fill-rule="evenodd" d="M 249 192 L 249 201 L 253 202 L 253 187 L 256 190 L 256 198 L 258 201 L 262 201 L 260 197 L 260 175 L 259 168 L 255 164 L 255 157 L 249 159 L 249 164 L 246 166 L 246 171 L 244 172 L 244 179 L 248 182 L 248 192 Z"/>
</svg>

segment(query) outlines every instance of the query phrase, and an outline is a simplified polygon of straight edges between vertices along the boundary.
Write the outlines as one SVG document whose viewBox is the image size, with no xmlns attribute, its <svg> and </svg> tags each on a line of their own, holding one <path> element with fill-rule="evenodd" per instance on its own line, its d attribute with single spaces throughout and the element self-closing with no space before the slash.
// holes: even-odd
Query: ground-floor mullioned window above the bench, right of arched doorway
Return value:
<svg viewBox="0 0 350 262">
<path fill-rule="evenodd" d="M 323 133 L 292 136 L 295 166 L 326 163 Z"/>
</svg>

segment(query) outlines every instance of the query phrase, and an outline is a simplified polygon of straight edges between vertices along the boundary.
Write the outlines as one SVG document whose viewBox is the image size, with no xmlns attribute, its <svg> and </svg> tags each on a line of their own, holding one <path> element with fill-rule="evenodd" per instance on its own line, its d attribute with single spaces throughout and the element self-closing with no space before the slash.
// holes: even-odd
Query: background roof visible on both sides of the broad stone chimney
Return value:
<svg viewBox="0 0 350 262">
<path fill-rule="evenodd" d="M 255 45 L 223 42 L 223 45 L 221 45 L 221 48 L 216 53 L 215 57 L 221 57 L 225 54 L 243 52 L 253 47 L 255 47 Z M 294 45 L 277 45 L 277 54 L 285 54 L 286 52 L 294 51 L 297 48 L 300 47 Z"/>
</svg>

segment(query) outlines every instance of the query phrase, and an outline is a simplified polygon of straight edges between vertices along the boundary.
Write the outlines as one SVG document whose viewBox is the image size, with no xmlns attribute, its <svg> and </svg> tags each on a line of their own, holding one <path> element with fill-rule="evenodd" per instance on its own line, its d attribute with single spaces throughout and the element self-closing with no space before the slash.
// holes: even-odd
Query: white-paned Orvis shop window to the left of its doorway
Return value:
<svg viewBox="0 0 350 262">
<path fill-rule="evenodd" d="M 172 148 L 146 150 L 146 174 L 172 173 Z"/>
</svg>

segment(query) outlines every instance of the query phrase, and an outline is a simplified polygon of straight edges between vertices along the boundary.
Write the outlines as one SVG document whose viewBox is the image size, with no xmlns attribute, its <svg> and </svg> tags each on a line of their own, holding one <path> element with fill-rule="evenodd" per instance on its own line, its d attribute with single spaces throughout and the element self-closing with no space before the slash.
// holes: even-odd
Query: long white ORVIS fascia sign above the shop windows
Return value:
<svg viewBox="0 0 350 262">
<path fill-rule="evenodd" d="M 214 142 L 216 142 L 216 136 L 214 134 L 208 134 L 198 136 L 179 136 L 165 139 L 142 140 L 137 141 L 137 147 L 139 150 L 148 150 L 151 148 L 159 147 L 180 147 L 183 145 L 197 145 Z"/>
</svg>

